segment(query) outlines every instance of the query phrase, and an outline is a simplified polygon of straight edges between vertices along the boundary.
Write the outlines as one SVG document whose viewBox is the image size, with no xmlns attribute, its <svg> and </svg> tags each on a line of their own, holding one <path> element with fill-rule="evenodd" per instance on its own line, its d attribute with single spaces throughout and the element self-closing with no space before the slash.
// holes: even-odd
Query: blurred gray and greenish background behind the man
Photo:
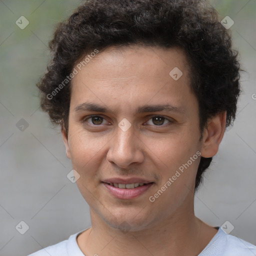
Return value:
<svg viewBox="0 0 256 256">
<path fill-rule="evenodd" d="M 38 109 L 35 87 L 54 25 L 78 3 L 0 0 L 0 255 L 26 255 L 90 226 L 88 206 L 66 177 L 72 166 L 61 134 Z M 195 213 L 214 226 L 228 220 L 231 234 L 255 244 L 256 0 L 210 3 L 221 19 L 234 20 L 234 48 L 247 72 L 241 73 L 237 118 L 195 195 Z M 24 29 L 15 24 L 21 15 L 29 21 Z M 28 123 L 23 131 L 16 126 L 21 118 Z M 23 235 L 15 229 L 21 220 L 29 226 Z"/>
</svg>

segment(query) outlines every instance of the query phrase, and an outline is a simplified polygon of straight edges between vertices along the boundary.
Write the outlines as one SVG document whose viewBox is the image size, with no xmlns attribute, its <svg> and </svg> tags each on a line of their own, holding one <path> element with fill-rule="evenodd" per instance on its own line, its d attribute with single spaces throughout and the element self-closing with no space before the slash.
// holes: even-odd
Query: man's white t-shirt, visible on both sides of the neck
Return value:
<svg viewBox="0 0 256 256">
<path fill-rule="evenodd" d="M 86 230 L 86 229 L 84 229 Z M 28 256 L 84 256 L 79 249 L 76 237 L 72 234 L 67 240 L 45 247 Z M 256 246 L 236 236 L 226 234 L 221 228 L 198 256 L 255 256 Z"/>
</svg>

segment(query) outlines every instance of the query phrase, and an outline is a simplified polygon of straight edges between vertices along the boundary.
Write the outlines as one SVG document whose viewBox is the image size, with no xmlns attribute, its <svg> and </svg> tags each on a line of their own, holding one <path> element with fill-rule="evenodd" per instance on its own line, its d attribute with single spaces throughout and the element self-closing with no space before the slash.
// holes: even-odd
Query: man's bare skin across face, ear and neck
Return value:
<svg viewBox="0 0 256 256">
<path fill-rule="evenodd" d="M 178 80 L 169 75 L 174 67 L 183 73 Z M 106 48 L 73 77 L 69 130 L 61 133 L 80 175 L 77 186 L 90 207 L 91 228 L 77 237 L 86 256 L 197 255 L 217 232 L 194 215 L 199 157 L 154 202 L 148 199 L 196 151 L 215 155 L 223 137 L 225 112 L 208 120 L 199 140 L 198 103 L 188 74 L 181 49 L 133 45 Z M 83 102 L 110 110 L 74 111 Z M 182 111 L 135 113 L 138 106 L 163 103 Z M 91 114 L 99 117 L 89 118 Z M 131 124 L 126 131 L 118 127 L 123 118 Z M 101 182 L 111 177 L 154 183 L 142 195 L 118 199 Z"/>
</svg>

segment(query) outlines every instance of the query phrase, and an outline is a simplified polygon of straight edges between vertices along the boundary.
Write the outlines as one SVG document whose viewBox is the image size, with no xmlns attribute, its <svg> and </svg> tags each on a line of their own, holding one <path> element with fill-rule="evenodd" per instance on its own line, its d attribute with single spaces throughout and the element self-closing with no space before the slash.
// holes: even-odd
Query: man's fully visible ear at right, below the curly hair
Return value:
<svg viewBox="0 0 256 256">
<path fill-rule="evenodd" d="M 207 121 L 202 135 L 201 156 L 208 158 L 215 155 L 223 138 L 226 125 L 226 111 L 216 114 Z"/>
</svg>

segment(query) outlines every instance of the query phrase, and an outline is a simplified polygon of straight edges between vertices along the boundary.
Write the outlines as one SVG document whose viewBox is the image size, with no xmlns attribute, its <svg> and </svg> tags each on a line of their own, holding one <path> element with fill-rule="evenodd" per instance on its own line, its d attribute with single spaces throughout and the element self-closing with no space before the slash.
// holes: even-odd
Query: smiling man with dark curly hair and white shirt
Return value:
<svg viewBox="0 0 256 256">
<path fill-rule="evenodd" d="M 60 23 L 37 84 L 91 227 L 38 255 L 255 255 L 194 215 L 235 117 L 239 63 L 200 0 L 89 0 Z"/>
</svg>

